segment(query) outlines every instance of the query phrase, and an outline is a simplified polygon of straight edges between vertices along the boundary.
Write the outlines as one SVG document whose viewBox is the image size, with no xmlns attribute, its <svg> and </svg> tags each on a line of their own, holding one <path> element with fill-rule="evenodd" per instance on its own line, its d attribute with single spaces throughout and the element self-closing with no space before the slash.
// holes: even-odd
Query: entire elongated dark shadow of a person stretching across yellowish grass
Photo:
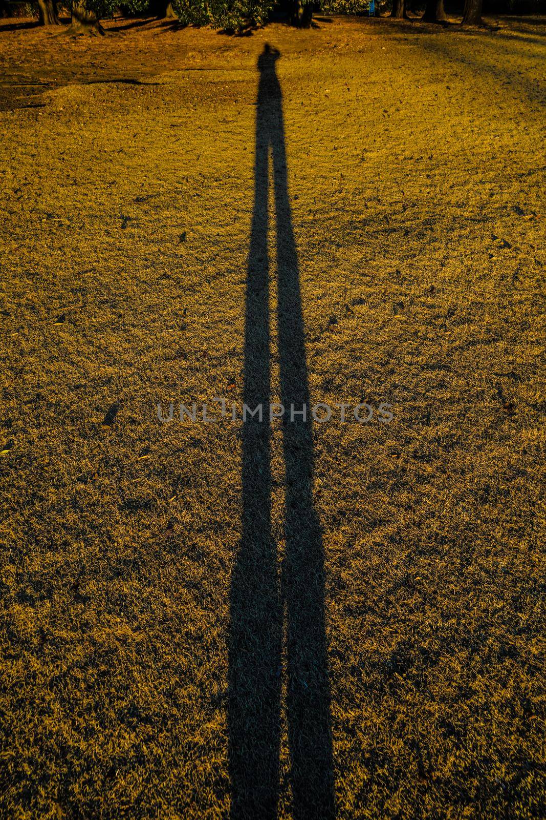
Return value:
<svg viewBox="0 0 546 820">
<path fill-rule="evenodd" d="M 287 724 L 292 814 L 335 813 L 330 686 L 324 627 L 323 540 L 313 500 L 309 408 L 300 276 L 287 185 L 280 56 L 265 46 L 258 60 L 255 202 L 246 284 L 242 434 L 242 534 L 232 572 L 229 634 L 229 772 L 231 816 L 275 818 L 278 810 L 282 648 L 286 647 Z M 285 553 L 282 570 L 271 531 L 271 335 L 268 188 L 273 156 L 277 229 L 278 356 L 285 462 Z M 285 628 L 286 613 L 286 628 Z"/>
</svg>

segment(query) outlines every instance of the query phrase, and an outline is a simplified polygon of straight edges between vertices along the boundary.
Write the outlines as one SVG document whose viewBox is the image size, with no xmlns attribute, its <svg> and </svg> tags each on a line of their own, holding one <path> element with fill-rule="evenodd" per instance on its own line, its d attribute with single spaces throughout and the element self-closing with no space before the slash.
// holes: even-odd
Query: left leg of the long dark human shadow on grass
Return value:
<svg viewBox="0 0 546 820">
<path fill-rule="evenodd" d="M 242 535 L 231 584 L 229 768 L 237 820 L 275 818 L 278 801 L 282 602 L 270 512 L 268 119 L 268 82 L 260 75 L 243 401 L 251 410 L 261 404 L 264 416 L 243 423 Z"/>
</svg>

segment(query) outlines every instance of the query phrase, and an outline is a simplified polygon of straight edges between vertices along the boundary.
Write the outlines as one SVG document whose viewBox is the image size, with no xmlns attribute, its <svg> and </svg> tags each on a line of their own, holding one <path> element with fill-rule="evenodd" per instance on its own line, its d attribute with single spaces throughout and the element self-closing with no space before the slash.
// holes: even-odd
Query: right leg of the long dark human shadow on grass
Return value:
<svg viewBox="0 0 546 820">
<path fill-rule="evenodd" d="M 314 508 L 314 451 L 300 272 L 287 184 L 282 97 L 271 130 L 277 219 L 278 348 L 285 407 L 287 715 L 295 820 L 334 813 L 323 538 Z M 291 406 L 296 411 L 291 420 Z M 309 417 L 300 415 L 305 406 Z"/>
</svg>

